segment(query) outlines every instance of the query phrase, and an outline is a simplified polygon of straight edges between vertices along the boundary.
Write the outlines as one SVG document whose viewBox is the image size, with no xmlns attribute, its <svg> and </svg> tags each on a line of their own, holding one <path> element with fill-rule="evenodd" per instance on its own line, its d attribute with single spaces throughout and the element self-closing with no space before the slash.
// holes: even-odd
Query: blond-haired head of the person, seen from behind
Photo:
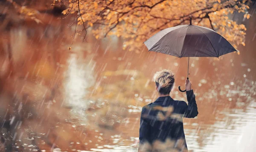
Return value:
<svg viewBox="0 0 256 152">
<path fill-rule="evenodd" d="M 171 70 L 161 70 L 154 74 L 154 82 L 158 93 L 169 95 L 174 85 L 174 74 Z"/>
</svg>

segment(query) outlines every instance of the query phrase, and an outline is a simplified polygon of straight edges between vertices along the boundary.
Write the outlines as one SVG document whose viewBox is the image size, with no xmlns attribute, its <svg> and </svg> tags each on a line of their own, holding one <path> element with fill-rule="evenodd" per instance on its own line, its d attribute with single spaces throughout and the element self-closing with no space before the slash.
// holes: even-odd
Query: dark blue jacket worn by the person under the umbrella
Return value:
<svg viewBox="0 0 256 152">
<path fill-rule="evenodd" d="M 188 105 L 165 96 L 143 107 L 139 151 L 187 151 L 182 117 L 194 118 L 198 108 L 193 90 L 186 91 L 186 96 Z"/>
</svg>

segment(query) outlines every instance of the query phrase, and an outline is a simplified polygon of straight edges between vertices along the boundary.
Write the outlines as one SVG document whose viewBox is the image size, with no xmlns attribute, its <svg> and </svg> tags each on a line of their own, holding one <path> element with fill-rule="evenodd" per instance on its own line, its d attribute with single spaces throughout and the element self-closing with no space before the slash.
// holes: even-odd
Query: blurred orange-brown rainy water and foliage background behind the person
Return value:
<svg viewBox="0 0 256 152">
<path fill-rule="evenodd" d="M 96 2 L 98 8 L 101 2 L 80 1 L 81 12 L 88 8 L 95 9 L 95 13 L 79 13 L 75 7 L 78 1 L 72 0 L 0 1 L 1 152 L 136 152 L 140 112 L 144 105 L 157 98 L 152 77 L 162 69 L 175 73 L 172 98 L 186 101 L 186 94 L 179 92 L 177 86 L 183 88 L 185 84 L 187 58 L 148 52 L 142 45 L 143 40 L 160 28 L 148 33 L 138 31 L 144 37 L 137 35 L 140 39 L 134 40 L 137 37 L 124 35 L 127 31 L 119 30 L 121 25 L 115 26 L 116 22 L 112 25 L 101 14 L 97 15 L 96 6 L 91 3 Z M 239 53 L 229 53 L 219 59 L 191 58 L 189 78 L 199 114 L 194 119 L 183 118 L 188 149 L 191 152 L 254 152 L 256 4 L 250 0 L 239 1 L 237 7 L 245 11 L 230 9 L 234 12 L 224 15 L 228 17 L 227 22 L 232 20 L 239 28 L 222 30 L 221 25 L 226 22 L 214 13 L 229 9 L 227 6 L 237 0 L 210 0 L 208 4 L 205 1 L 170 3 L 177 2 L 177 7 L 203 3 L 205 7 L 212 5 L 220 9 L 202 8 L 212 10 L 203 12 L 202 17 L 202 12 L 199 16 L 182 12 L 179 22 L 188 24 L 189 14 L 195 15 L 195 24 L 222 32 Z M 159 2 L 127 1 L 131 8 L 136 3 L 134 7 L 157 6 Z M 122 2 L 116 0 L 109 9 L 116 11 L 111 7 L 118 3 Z M 224 6 L 225 3 L 230 4 Z M 80 20 L 81 15 L 102 18 Z M 159 22 L 167 20 L 164 17 Z M 97 25 L 98 20 L 109 26 L 102 28 L 103 23 Z M 217 24 L 217 20 L 221 23 Z M 128 28 L 130 24 L 126 22 L 130 21 L 124 23 Z M 161 28 L 180 24 L 169 22 Z M 108 34 L 111 28 L 116 31 Z"/>
</svg>

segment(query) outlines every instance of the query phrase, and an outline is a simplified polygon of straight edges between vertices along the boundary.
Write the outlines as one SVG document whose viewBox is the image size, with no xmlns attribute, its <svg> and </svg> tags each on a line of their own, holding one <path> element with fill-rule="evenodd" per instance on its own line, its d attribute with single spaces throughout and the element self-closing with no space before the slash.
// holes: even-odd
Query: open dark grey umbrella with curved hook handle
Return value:
<svg viewBox="0 0 256 152">
<path fill-rule="evenodd" d="M 220 34 L 210 28 L 192 25 L 178 25 L 166 28 L 144 42 L 148 51 L 182 57 L 219 57 L 236 49 Z M 188 74 L 189 79 L 189 59 Z M 185 92 L 186 90 L 181 90 Z"/>
</svg>

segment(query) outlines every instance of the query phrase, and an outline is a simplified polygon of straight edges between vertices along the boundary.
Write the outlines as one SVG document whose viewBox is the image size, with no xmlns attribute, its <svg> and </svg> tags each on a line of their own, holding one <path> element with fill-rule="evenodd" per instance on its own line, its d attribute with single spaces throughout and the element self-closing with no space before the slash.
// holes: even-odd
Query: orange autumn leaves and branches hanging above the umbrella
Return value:
<svg viewBox="0 0 256 152">
<path fill-rule="evenodd" d="M 140 50 L 143 42 L 164 28 L 192 24 L 212 28 L 235 48 L 245 45 L 243 24 L 230 19 L 233 12 L 249 19 L 250 0 L 59 0 L 68 3 L 63 14 L 77 14 L 84 30 L 93 27 L 96 39 L 116 35 L 125 42 L 123 49 Z M 55 5 L 55 3 L 53 3 Z"/>
</svg>

